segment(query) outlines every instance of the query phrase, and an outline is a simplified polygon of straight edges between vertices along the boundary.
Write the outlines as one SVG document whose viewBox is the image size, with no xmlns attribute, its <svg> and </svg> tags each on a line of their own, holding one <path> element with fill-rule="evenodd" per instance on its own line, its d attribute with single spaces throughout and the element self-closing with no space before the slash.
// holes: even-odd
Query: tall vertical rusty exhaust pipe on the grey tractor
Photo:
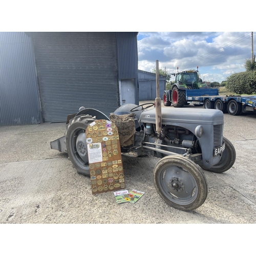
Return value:
<svg viewBox="0 0 256 256">
<path fill-rule="evenodd" d="M 157 88 L 157 97 L 156 102 L 156 132 L 158 136 L 162 132 L 162 112 L 161 112 L 161 98 L 160 98 L 160 89 L 159 89 L 159 61 L 156 60 L 156 88 Z"/>
</svg>

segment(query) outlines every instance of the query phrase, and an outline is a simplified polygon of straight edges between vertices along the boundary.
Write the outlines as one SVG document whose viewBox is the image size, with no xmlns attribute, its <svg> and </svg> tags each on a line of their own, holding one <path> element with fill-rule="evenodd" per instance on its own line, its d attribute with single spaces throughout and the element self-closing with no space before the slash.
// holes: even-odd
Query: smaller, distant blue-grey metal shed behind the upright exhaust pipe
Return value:
<svg viewBox="0 0 256 256">
<path fill-rule="evenodd" d="M 139 77 L 139 100 L 154 100 L 156 94 L 156 74 L 138 70 Z M 165 90 L 165 76 L 159 75 L 159 91 L 160 97 L 163 98 Z"/>
</svg>

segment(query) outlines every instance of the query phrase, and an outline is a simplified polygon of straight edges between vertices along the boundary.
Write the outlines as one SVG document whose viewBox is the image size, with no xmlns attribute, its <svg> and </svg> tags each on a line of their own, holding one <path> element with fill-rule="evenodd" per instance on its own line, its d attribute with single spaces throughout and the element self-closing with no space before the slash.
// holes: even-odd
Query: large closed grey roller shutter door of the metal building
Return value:
<svg viewBox="0 0 256 256">
<path fill-rule="evenodd" d="M 44 121 L 119 106 L 116 32 L 33 32 Z"/>
</svg>

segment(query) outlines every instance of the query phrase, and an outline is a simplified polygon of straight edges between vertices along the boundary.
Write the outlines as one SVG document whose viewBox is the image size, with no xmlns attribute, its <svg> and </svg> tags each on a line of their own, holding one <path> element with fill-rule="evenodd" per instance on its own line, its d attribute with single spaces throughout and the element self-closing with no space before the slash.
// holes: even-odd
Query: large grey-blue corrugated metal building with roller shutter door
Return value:
<svg viewBox="0 0 256 256">
<path fill-rule="evenodd" d="M 1 125 L 65 122 L 80 106 L 109 115 L 123 103 L 138 104 L 137 34 L 0 32 L 0 53 L 6 53 L 0 63 L 5 73 L 0 88 L 4 82 L 11 88 L 6 101 L 18 102 L 1 105 Z M 20 82 L 24 74 L 32 81 Z M 33 106 L 36 118 L 29 113 L 31 102 L 37 104 L 37 109 Z"/>
</svg>

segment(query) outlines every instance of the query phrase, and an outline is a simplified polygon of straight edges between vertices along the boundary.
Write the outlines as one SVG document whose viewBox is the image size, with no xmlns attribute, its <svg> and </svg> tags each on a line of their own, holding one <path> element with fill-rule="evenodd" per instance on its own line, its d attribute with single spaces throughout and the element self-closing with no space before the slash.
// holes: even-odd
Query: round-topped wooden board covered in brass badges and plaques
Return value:
<svg viewBox="0 0 256 256">
<path fill-rule="evenodd" d="M 125 188 L 119 135 L 109 120 L 96 120 L 86 129 L 92 193 Z"/>
</svg>

